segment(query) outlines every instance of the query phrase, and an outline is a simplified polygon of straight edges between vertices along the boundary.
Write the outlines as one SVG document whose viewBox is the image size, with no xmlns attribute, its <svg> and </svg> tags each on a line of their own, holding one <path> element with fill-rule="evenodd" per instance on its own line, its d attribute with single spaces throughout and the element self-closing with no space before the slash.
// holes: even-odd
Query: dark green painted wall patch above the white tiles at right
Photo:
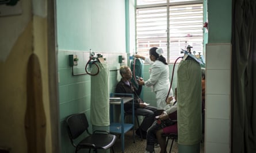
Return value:
<svg viewBox="0 0 256 153">
<path fill-rule="evenodd" d="M 208 0 L 208 43 L 230 43 L 232 0 Z"/>
</svg>

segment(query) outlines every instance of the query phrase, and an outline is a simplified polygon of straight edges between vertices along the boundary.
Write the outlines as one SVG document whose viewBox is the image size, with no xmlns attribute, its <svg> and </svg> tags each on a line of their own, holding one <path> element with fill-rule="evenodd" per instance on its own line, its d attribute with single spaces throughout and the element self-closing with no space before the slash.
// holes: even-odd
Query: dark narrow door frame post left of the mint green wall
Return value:
<svg viewBox="0 0 256 153">
<path fill-rule="evenodd" d="M 56 0 L 47 0 L 47 41 L 49 111 L 51 123 L 52 152 L 60 152 L 58 48 L 56 34 Z"/>
</svg>

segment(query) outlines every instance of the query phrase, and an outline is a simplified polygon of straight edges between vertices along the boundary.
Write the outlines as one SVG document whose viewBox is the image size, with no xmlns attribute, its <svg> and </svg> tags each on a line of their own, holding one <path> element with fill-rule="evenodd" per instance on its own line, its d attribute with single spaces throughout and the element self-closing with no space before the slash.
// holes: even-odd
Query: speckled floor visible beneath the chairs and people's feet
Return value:
<svg viewBox="0 0 256 153">
<path fill-rule="evenodd" d="M 129 131 L 125 134 L 125 144 L 124 144 L 124 152 L 125 153 L 135 153 L 135 152 L 145 152 L 146 148 L 146 140 L 143 139 L 143 141 L 140 140 L 139 137 L 135 136 L 135 143 L 133 143 L 132 139 L 132 131 Z M 167 152 L 169 152 L 171 146 L 171 140 L 169 140 L 168 146 L 167 146 Z M 120 139 L 117 139 L 116 144 L 114 145 L 114 151 L 117 153 L 121 153 L 121 141 Z M 159 153 L 160 152 L 160 147 L 155 148 L 155 152 Z M 176 153 L 178 152 L 178 143 L 174 141 L 173 147 L 171 149 L 171 153 Z M 204 152 L 204 143 L 201 143 L 201 150 L 200 153 Z"/>
</svg>

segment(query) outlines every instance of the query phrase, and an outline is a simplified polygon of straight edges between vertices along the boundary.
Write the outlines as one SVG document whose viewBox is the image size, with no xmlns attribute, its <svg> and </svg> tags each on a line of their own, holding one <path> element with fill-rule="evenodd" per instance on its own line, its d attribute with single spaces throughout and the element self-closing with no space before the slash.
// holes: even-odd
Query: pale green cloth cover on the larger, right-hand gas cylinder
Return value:
<svg viewBox="0 0 256 153">
<path fill-rule="evenodd" d="M 192 58 L 182 60 L 177 70 L 178 143 L 201 141 L 201 68 Z"/>
</svg>

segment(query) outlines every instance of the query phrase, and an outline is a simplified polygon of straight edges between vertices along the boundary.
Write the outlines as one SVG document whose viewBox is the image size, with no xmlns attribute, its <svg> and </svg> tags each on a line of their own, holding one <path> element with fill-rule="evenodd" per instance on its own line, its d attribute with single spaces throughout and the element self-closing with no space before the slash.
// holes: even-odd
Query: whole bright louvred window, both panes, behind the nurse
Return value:
<svg viewBox="0 0 256 153">
<path fill-rule="evenodd" d="M 182 56 L 187 45 L 193 46 L 192 53 L 202 53 L 202 11 L 202 1 L 137 0 L 137 52 L 148 56 L 156 46 L 168 62 Z"/>
</svg>

